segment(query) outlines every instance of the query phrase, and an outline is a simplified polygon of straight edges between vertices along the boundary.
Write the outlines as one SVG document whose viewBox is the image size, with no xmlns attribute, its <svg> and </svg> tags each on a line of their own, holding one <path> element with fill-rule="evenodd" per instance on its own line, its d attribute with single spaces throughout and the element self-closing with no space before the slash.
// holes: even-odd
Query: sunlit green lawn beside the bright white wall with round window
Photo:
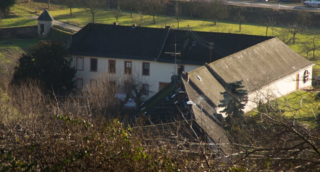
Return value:
<svg viewBox="0 0 320 172">
<path fill-rule="evenodd" d="M 295 91 L 284 97 L 278 98 L 276 101 L 279 108 L 282 109 L 282 115 L 286 119 L 292 121 L 293 116 L 300 123 L 308 124 L 311 128 L 318 126 L 316 118 L 320 105 L 320 100 L 316 100 L 317 92 Z M 256 115 L 254 111 L 246 113 L 246 116 Z"/>
</svg>

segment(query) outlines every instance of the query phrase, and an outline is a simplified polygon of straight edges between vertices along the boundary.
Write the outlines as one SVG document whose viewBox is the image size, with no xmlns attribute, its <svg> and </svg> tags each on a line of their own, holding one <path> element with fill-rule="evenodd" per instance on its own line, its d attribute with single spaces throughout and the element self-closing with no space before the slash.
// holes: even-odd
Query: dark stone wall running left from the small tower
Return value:
<svg viewBox="0 0 320 172">
<path fill-rule="evenodd" d="M 21 38 L 30 39 L 38 37 L 37 26 L 23 26 L 23 27 L 3 27 L 0 28 L 1 38 Z"/>
</svg>

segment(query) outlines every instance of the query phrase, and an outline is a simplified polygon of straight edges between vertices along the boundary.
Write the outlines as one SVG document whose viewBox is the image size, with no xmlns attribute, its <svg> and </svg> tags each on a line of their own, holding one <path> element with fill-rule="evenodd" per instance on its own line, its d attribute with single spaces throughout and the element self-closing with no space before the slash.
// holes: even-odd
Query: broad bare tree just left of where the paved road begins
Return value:
<svg viewBox="0 0 320 172">
<path fill-rule="evenodd" d="M 228 17 L 228 14 L 228 6 L 225 0 L 209 0 L 205 3 L 204 16 L 214 20 L 214 25 L 216 25 L 218 19 Z"/>
</svg>

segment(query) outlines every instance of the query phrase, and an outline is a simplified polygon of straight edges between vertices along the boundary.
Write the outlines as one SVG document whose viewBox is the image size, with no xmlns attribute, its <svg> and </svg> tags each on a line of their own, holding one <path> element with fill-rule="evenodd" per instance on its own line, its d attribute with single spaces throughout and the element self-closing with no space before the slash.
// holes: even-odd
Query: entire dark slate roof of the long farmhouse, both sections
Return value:
<svg viewBox="0 0 320 172">
<path fill-rule="evenodd" d="M 72 36 L 70 53 L 96 57 L 157 60 L 174 63 L 174 57 L 165 52 L 174 52 L 175 40 L 179 64 L 210 62 L 208 42 L 212 42 L 212 61 L 244 50 L 272 37 L 213 33 L 169 28 L 132 27 L 89 23 Z M 193 46 L 192 43 L 196 42 Z"/>
</svg>

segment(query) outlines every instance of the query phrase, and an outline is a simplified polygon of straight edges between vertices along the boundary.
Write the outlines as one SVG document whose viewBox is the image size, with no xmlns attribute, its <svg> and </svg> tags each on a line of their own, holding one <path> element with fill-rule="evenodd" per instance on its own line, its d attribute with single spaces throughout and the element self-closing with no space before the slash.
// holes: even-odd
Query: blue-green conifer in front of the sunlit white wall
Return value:
<svg viewBox="0 0 320 172">
<path fill-rule="evenodd" d="M 235 121 L 242 121 L 243 109 L 248 101 L 248 93 L 242 88 L 244 88 L 242 81 L 229 82 L 226 91 L 220 93 L 223 95 L 223 100 L 220 100 L 218 107 L 224 107 L 221 112 L 226 113 L 229 119 Z"/>
</svg>

